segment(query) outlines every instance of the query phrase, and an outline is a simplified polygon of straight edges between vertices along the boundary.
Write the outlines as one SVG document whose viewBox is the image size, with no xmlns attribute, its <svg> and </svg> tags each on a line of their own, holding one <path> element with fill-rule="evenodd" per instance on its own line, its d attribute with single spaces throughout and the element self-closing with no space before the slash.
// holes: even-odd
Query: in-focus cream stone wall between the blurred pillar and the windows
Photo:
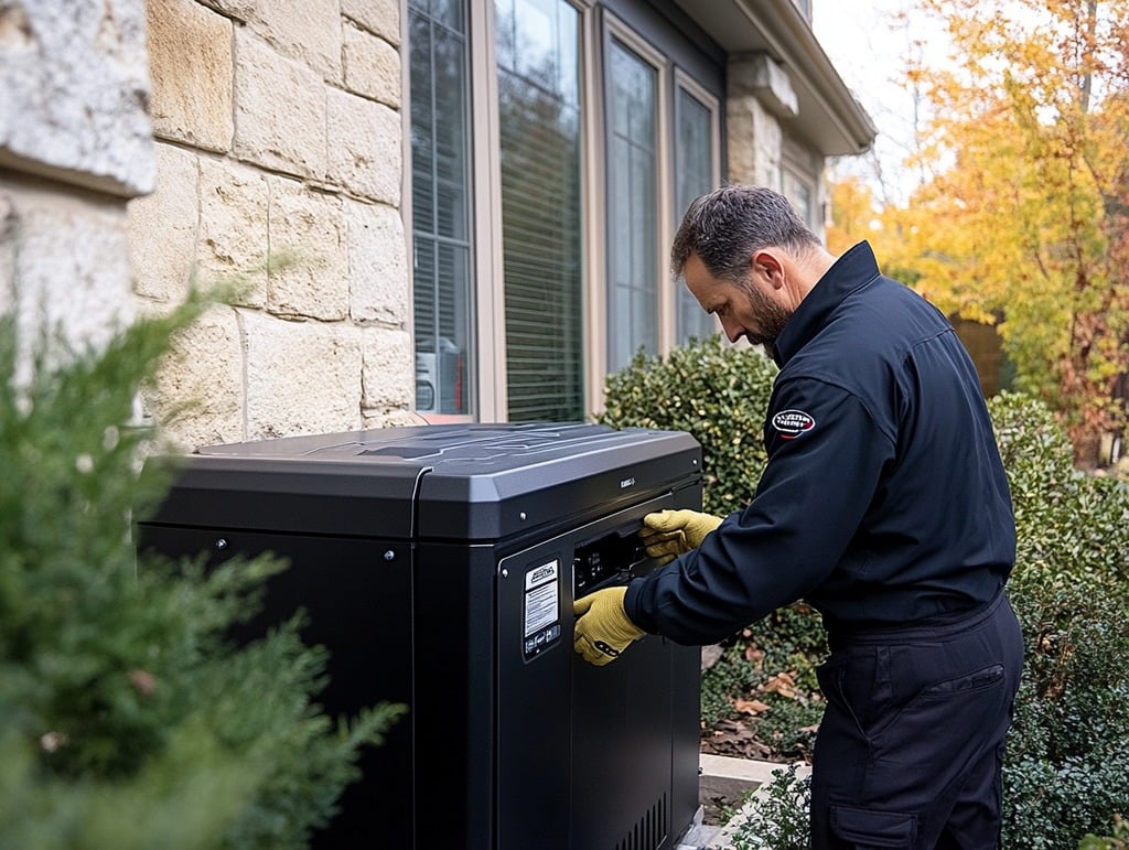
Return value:
<svg viewBox="0 0 1129 850">
<path fill-rule="evenodd" d="M 148 401 L 190 445 L 408 421 L 397 0 L 149 0 L 147 307 L 238 280 Z"/>
</svg>

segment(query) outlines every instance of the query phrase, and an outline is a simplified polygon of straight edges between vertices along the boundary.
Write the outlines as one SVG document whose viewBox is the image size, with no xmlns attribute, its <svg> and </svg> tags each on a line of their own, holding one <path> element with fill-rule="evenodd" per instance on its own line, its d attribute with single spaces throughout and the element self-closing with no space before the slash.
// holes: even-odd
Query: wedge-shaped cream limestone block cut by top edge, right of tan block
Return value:
<svg viewBox="0 0 1129 850">
<path fill-rule="evenodd" d="M 341 81 L 341 16 L 332 0 L 257 0 L 244 10 L 247 26 L 282 55 L 323 79 Z"/>
</svg>

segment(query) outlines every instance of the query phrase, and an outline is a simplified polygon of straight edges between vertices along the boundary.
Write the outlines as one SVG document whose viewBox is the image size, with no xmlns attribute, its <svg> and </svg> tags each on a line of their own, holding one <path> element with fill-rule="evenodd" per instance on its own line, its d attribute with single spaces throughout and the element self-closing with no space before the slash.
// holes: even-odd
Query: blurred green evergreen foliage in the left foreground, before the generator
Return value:
<svg viewBox="0 0 1129 850">
<path fill-rule="evenodd" d="M 306 847 L 403 711 L 325 716 L 300 615 L 228 641 L 285 563 L 137 560 L 168 481 L 134 398 L 210 303 L 100 351 L 0 317 L 0 850 Z"/>
</svg>

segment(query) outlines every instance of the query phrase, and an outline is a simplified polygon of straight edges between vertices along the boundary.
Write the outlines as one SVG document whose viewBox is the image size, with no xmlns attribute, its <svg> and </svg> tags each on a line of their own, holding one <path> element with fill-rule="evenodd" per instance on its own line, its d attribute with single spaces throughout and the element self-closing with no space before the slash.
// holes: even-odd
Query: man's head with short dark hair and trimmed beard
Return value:
<svg viewBox="0 0 1129 850">
<path fill-rule="evenodd" d="M 723 186 L 686 210 L 671 247 L 671 269 L 726 336 L 776 342 L 833 257 L 784 195 L 761 186 Z"/>
</svg>

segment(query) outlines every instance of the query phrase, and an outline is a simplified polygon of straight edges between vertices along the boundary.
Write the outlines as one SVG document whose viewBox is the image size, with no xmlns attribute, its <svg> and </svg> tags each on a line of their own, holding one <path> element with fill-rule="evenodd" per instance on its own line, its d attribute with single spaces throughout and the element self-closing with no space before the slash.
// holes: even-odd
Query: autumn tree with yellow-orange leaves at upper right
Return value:
<svg viewBox="0 0 1129 850">
<path fill-rule="evenodd" d="M 1077 461 L 1124 424 L 1129 370 L 1129 0 L 918 0 L 951 40 L 910 70 L 930 105 L 911 164 L 936 175 L 892 262 L 946 312 L 998 323 L 1017 388 Z"/>
</svg>

